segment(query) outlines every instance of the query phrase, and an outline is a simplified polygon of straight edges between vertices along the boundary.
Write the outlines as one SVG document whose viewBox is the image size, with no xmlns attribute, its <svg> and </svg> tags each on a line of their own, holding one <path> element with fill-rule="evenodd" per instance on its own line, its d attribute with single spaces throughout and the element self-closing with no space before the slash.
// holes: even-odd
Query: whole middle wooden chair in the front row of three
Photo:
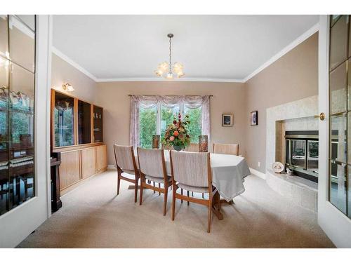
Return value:
<svg viewBox="0 0 351 263">
<path fill-rule="evenodd" d="M 172 185 L 171 176 L 167 175 L 163 149 L 143 149 L 138 147 L 138 162 L 140 168 L 140 200 L 143 203 L 144 188 L 164 194 L 164 215 L 166 215 L 168 188 Z M 147 180 L 157 182 L 159 187 L 148 184 Z M 164 184 L 164 187 L 161 187 Z"/>
</svg>

